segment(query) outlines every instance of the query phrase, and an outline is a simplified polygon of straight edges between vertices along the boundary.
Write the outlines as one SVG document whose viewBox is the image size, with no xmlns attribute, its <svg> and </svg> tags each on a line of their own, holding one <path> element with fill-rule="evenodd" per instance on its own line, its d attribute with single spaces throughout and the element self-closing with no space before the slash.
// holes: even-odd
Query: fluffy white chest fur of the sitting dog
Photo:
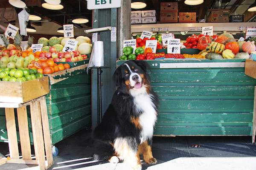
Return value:
<svg viewBox="0 0 256 170">
<path fill-rule="evenodd" d="M 154 108 L 150 94 L 146 92 L 134 96 L 134 104 L 137 107 L 137 111 L 142 112 L 139 117 L 139 122 L 142 127 L 140 140 L 144 142 L 153 136 L 154 124 L 157 120 L 157 111 Z"/>
</svg>

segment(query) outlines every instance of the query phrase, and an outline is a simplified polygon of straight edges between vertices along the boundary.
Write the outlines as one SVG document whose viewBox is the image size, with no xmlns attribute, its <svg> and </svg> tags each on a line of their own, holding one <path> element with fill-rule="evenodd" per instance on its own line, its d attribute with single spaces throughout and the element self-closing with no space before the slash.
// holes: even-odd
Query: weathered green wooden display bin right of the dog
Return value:
<svg viewBox="0 0 256 170">
<path fill-rule="evenodd" d="M 256 80 L 244 74 L 245 59 L 145 61 L 160 97 L 155 136 L 252 135 Z"/>
</svg>

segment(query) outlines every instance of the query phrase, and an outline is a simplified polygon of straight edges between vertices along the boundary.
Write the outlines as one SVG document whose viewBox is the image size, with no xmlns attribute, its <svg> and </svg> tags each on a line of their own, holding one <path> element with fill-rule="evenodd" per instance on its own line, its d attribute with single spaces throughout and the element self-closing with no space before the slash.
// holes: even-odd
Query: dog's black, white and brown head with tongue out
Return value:
<svg viewBox="0 0 256 170">
<path fill-rule="evenodd" d="M 128 60 L 123 63 L 113 75 L 116 87 L 123 92 L 136 91 L 143 87 L 151 88 L 147 68 L 149 68 L 149 65 L 143 60 Z"/>
</svg>

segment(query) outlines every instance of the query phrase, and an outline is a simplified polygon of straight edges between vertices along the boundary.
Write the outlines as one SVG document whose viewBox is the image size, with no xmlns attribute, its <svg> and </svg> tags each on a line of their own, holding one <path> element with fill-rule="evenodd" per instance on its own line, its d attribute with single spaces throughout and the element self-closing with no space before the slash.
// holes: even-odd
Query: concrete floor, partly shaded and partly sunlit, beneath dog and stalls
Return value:
<svg viewBox="0 0 256 170">
<path fill-rule="evenodd" d="M 95 162 L 90 130 L 81 130 L 55 144 L 59 153 L 48 170 L 129 170 L 126 163 Z M 191 147 L 198 144 L 200 147 Z M 0 142 L 0 156 L 8 154 Z M 142 161 L 143 170 L 256 170 L 256 145 L 250 136 L 154 137 L 152 152 L 157 164 Z M 3 164 L 0 170 L 38 170 L 37 166 Z"/>
</svg>

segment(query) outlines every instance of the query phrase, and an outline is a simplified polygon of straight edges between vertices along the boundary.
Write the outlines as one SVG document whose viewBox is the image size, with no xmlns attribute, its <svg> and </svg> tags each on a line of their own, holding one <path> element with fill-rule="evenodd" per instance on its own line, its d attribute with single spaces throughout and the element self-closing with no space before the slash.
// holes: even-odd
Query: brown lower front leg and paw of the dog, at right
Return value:
<svg viewBox="0 0 256 170">
<path fill-rule="evenodd" d="M 157 163 L 157 159 L 155 159 L 152 155 L 152 150 L 151 147 L 148 145 L 148 142 L 145 141 L 142 144 L 139 145 L 138 147 L 138 153 L 143 154 L 144 161 L 147 164 L 155 164 Z"/>
</svg>

